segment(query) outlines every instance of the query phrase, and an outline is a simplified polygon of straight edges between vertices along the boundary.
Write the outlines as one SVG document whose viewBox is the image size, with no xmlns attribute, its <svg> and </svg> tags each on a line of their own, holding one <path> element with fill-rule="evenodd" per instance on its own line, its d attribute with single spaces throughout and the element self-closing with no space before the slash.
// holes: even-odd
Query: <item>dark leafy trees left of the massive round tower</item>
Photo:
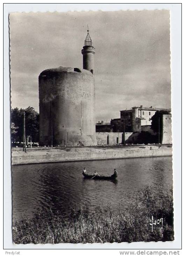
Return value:
<svg viewBox="0 0 185 256">
<path fill-rule="evenodd" d="M 33 107 L 26 109 L 14 108 L 12 109 L 11 122 L 17 127 L 17 133 L 14 134 L 16 141 L 23 141 L 23 116 L 25 111 L 25 126 L 26 126 L 26 137 L 27 144 L 30 139 L 36 142 L 39 140 L 39 114 Z"/>
</svg>

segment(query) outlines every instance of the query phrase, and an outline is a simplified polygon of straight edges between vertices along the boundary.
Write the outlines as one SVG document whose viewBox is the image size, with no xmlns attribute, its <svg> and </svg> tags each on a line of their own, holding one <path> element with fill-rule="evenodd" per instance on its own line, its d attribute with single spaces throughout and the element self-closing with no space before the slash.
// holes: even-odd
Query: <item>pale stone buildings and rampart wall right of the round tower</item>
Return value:
<svg viewBox="0 0 185 256">
<path fill-rule="evenodd" d="M 107 136 L 110 144 L 123 143 L 123 134 L 125 142 L 128 144 L 158 143 L 158 134 L 151 129 L 151 117 L 157 110 L 164 110 L 169 113 L 162 116 L 160 140 L 163 144 L 171 144 L 171 110 L 153 108 L 152 106 L 143 107 L 142 105 L 121 110 L 120 118 L 111 119 L 111 123 L 108 126 L 103 121 L 97 123 L 96 136 L 98 144 L 107 144 Z"/>
</svg>

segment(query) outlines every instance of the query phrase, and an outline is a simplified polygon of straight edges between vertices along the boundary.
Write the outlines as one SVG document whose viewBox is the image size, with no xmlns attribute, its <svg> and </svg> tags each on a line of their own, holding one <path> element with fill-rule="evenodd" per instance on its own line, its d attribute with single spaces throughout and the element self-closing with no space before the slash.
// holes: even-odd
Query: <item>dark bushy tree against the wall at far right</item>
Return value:
<svg viewBox="0 0 185 256">
<path fill-rule="evenodd" d="M 151 129 L 157 134 L 160 133 L 160 143 L 163 135 L 163 115 L 166 114 L 170 114 L 168 110 L 157 110 L 156 113 L 151 117 Z"/>
</svg>

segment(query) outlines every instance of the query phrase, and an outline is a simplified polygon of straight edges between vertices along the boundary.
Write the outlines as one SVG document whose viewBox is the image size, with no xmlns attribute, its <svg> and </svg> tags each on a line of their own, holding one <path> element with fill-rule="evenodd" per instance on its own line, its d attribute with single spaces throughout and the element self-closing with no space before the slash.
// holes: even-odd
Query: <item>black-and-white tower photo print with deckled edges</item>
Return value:
<svg viewBox="0 0 185 256">
<path fill-rule="evenodd" d="M 168 8 L 9 13 L 12 243 L 174 242 L 170 29 Z"/>
</svg>

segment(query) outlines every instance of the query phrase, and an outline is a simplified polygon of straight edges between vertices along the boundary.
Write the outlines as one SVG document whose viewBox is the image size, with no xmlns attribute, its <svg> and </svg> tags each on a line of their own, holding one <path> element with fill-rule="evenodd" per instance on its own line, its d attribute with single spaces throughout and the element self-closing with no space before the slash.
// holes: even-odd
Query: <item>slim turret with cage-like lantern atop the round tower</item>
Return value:
<svg viewBox="0 0 185 256">
<path fill-rule="evenodd" d="M 87 69 L 93 74 L 95 48 L 93 47 L 92 39 L 88 29 L 81 53 L 83 54 L 83 69 Z"/>
</svg>

